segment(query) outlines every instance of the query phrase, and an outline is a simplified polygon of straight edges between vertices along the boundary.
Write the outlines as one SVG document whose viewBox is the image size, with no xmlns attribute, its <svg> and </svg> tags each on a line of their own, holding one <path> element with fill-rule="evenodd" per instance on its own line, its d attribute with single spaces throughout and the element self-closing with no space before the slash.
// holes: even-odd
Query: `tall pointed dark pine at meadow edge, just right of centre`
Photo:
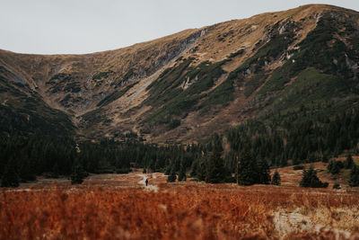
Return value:
<svg viewBox="0 0 359 240">
<path fill-rule="evenodd" d="M 212 155 L 206 165 L 206 182 L 219 183 L 225 181 L 226 171 L 219 149 L 215 144 Z"/>
</svg>

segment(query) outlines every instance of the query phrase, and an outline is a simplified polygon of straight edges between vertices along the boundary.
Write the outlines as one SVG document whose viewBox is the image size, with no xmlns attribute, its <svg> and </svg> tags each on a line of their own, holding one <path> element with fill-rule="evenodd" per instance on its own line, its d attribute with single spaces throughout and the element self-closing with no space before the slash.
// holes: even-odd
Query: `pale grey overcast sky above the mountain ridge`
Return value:
<svg viewBox="0 0 359 240">
<path fill-rule="evenodd" d="M 119 49 L 303 4 L 359 12 L 358 0 L 0 0 L 0 49 L 36 54 Z"/>
</svg>

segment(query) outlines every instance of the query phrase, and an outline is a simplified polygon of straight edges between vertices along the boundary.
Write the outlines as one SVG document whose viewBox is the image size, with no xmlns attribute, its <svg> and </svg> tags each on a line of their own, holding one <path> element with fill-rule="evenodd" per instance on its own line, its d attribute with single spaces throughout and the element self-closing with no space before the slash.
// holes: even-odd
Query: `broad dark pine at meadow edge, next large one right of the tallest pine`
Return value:
<svg viewBox="0 0 359 240">
<path fill-rule="evenodd" d="M 243 147 L 237 164 L 237 182 L 240 185 L 252 185 L 257 180 L 255 158 L 250 155 L 248 147 Z"/>
</svg>

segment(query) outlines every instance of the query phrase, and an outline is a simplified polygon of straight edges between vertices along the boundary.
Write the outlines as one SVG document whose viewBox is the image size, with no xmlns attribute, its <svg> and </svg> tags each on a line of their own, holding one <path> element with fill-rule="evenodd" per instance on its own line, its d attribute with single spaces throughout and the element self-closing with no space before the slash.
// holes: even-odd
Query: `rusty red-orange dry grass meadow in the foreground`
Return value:
<svg viewBox="0 0 359 240">
<path fill-rule="evenodd" d="M 1 190 L 0 239 L 359 239 L 358 212 L 355 191 L 101 174 Z"/>
</svg>

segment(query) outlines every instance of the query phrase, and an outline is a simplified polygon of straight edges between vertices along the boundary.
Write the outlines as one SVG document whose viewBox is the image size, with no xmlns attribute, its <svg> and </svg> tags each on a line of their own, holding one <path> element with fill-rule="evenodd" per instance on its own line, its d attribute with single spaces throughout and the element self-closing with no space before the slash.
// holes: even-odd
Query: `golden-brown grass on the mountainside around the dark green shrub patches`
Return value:
<svg viewBox="0 0 359 240">
<path fill-rule="evenodd" d="M 193 58 L 192 67 L 205 61 L 218 63 L 225 60 L 222 67 L 226 73 L 210 90 L 206 89 L 212 93 L 234 69 L 253 57 L 273 37 L 270 30 L 287 21 L 296 22 L 296 39 L 288 46 L 288 50 L 292 50 L 315 28 L 318 17 L 324 12 L 343 13 L 358 18 L 354 11 L 311 4 L 180 31 L 158 40 L 92 54 L 30 55 L 0 50 L 0 64 L 10 69 L 14 78 L 23 79 L 24 84 L 39 93 L 41 100 L 50 108 L 68 113 L 78 127 L 77 133 L 83 137 L 118 138 L 118 130 L 140 135 L 141 129 L 146 131 L 143 121 L 156 110 L 153 105 L 144 104 L 149 95 L 146 87 L 163 71 L 174 67 L 177 59 Z M 242 53 L 238 54 L 241 50 Z M 272 71 L 284 63 L 282 58 L 272 59 L 270 64 L 264 66 L 267 76 L 271 76 Z M 247 78 L 243 81 L 248 82 L 250 76 Z M 181 80 L 179 85 L 182 84 L 185 81 Z M 153 134 L 151 131 L 144 138 L 148 142 L 164 143 L 171 140 L 191 143 L 206 138 L 213 131 L 223 132 L 230 126 L 258 115 L 256 111 L 249 111 L 247 104 L 250 101 L 256 102 L 258 106 L 262 103 L 255 101 L 257 92 L 248 97 L 242 93 L 241 84 L 235 88 L 235 101 L 225 102 L 228 103 L 225 106 L 209 104 L 206 114 L 190 111 L 181 120 L 179 128 L 163 130 L 161 125 L 152 126 L 159 133 Z M 29 91 L 24 93 L 31 94 Z M 9 95 L 4 94 L 0 99 L 11 105 Z"/>
</svg>

